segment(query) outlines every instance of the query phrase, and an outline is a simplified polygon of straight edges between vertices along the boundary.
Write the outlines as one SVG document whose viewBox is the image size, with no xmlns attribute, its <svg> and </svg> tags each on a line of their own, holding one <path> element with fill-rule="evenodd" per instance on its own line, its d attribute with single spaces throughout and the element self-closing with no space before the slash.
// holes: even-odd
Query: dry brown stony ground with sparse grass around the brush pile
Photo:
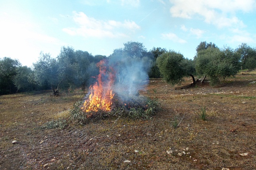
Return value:
<svg viewBox="0 0 256 170">
<path fill-rule="evenodd" d="M 140 94 L 161 103 L 149 120 L 69 122 L 79 89 L 0 96 L 0 169 L 256 169 L 255 71 L 215 87 L 149 81 Z"/>
</svg>

